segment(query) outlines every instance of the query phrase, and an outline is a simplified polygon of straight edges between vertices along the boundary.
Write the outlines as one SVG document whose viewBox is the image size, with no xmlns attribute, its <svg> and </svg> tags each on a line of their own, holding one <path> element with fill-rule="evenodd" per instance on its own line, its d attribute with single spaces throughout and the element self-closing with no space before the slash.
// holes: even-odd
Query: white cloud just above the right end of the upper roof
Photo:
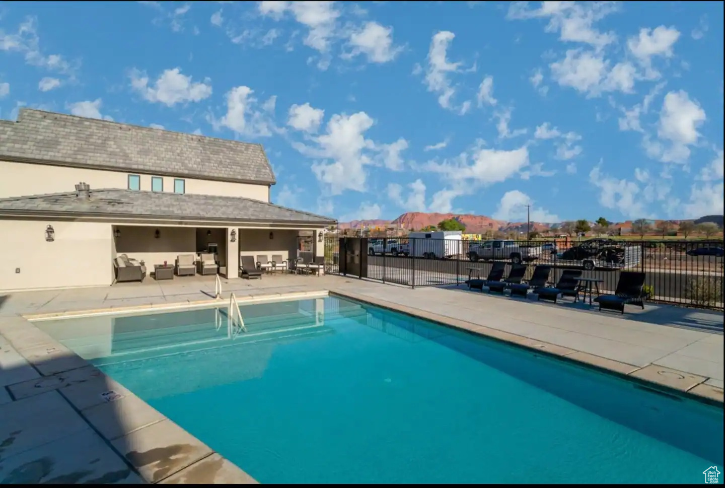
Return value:
<svg viewBox="0 0 725 488">
<path fill-rule="evenodd" d="M 267 137 L 278 129 L 268 114 L 269 100 L 257 110 L 257 99 L 252 96 L 254 91 L 248 86 L 236 86 L 227 92 L 227 112 L 217 120 L 210 116 L 209 120 L 215 130 L 221 127 L 231 129 L 235 133 L 249 138 Z"/>
</svg>

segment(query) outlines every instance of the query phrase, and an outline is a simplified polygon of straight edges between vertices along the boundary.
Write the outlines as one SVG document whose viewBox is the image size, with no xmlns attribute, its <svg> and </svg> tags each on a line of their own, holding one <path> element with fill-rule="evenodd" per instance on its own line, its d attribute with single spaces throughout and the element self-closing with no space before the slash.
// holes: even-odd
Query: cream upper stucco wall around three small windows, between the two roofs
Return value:
<svg viewBox="0 0 725 488">
<path fill-rule="evenodd" d="M 128 189 L 128 175 L 140 175 L 141 190 L 151 190 L 154 175 L 132 171 L 88 170 L 66 166 L 33 165 L 24 162 L 0 161 L 0 198 L 24 197 L 46 193 L 75 191 L 76 183 L 85 181 L 93 189 Z M 164 191 L 173 193 L 174 177 L 164 176 Z M 183 177 L 185 191 L 190 194 L 219 197 L 245 197 L 269 202 L 269 186 L 228 183 Z"/>
</svg>

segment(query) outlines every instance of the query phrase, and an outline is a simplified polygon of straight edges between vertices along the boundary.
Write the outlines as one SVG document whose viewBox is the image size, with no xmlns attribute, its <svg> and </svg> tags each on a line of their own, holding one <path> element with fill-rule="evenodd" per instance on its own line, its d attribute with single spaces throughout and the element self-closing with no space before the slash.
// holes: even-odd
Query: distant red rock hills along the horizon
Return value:
<svg viewBox="0 0 725 488">
<path fill-rule="evenodd" d="M 455 213 L 425 213 L 425 212 L 405 212 L 394 220 L 352 220 L 352 222 L 341 222 L 339 228 L 346 229 L 358 229 L 358 228 L 373 228 L 373 227 L 385 227 L 385 226 L 396 226 L 406 228 L 408 230 L 419 231 L 421 228 L 428 226 L 437 226 L 441 220 L 447 220 L 455 218 L 460 223 L 465 225 L 466 233 L 486 233 L 486 231 L 502 231 L 502 232 L 525 232 L 526 222 L 506 222 L 505 220 L 495 220 L 486 215 L 471 215 L 471 214 L 455 214 Z M 653 220 L 653 224 L 656 225 L 658 220 Z M 674 225 L 679 223 L 679 220 L 671 220 Z M 698 218 L 695 223 L 703 222 L 714 222 L 718 226 L 723 226 L 722 215 L 705 215 L 705 217 Z M 614 228 L 626 228 L 631 227 L 631 220 L 626 222 L 613 223 Z M 531 222 L 531 231 L 546 231 L 554 226 L 556 223 L 542 223 L 542 222 Z"/>
</svg>

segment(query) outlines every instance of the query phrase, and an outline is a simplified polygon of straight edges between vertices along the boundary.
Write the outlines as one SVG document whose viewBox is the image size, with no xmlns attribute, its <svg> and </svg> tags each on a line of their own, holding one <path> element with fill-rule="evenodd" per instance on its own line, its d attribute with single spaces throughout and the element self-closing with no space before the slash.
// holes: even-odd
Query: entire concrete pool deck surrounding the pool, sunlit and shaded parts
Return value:
<svg viewBox="0 0 725 488">
<path fill-rule="evenodd" d="M 211 276 L 0 292 L 0 482 L 254 483 L 27 318 L 210 301 Z M 223 280 L 223 298 L 329 290 L 448 326 L 723 401 L 723 314 L 647 305 L 624 316 L 468 291 L 339 276 Z"/>
</svg>

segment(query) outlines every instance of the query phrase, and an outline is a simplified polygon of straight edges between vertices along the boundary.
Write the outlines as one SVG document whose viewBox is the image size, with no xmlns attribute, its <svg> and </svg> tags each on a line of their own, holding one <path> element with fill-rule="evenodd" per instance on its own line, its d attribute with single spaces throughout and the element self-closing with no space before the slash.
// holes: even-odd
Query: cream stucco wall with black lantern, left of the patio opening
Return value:
<svg viewBox="0 0 725 488">
<path fill-rule="evenodd" d="M 52 242 L 45 237 L 49 225 L 55 231 Z M 113 281 L 108 223 L 0 219 L 0 236 L 0 291 Z"/>
</svg>

